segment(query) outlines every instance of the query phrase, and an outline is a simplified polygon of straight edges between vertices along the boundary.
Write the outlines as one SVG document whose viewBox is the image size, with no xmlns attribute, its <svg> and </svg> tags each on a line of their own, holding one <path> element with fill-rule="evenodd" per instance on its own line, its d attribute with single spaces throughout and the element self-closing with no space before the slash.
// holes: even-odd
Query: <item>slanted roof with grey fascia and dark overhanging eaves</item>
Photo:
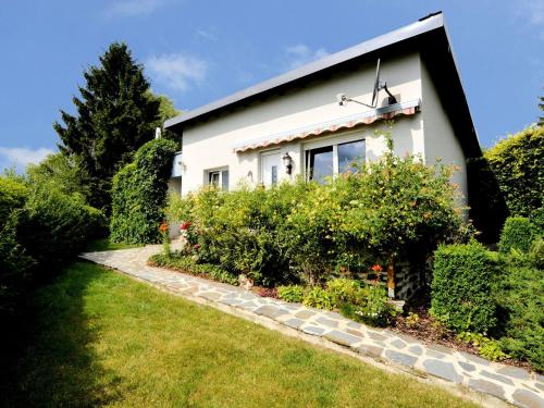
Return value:
<svg viewBox="0 0 544 408">
<path fill-rule="evenodd" d="M 481 156 L 472 116 L 442 12 L 429 14 L 412 24 L 185 112 L 165 121 L 164 127 L 182 134 L 185 125 L 205 120 L 227 108 L 232 109 L 243 103 L 249 103 L 257 98 L 277 94 L 286 88 L 301 85 L 304 82 L 327 75 L 332 70 L 348 67 L 367 59 L 375 59 L 379 57 L 378 54 L 383 55 L 390 51 L 394 52 L 408 47 L 418 49 L 422 60 L 426 63 L 444 109 L 449 115 L 457 137 L 460 138 L 465 154 L 467 157 Z"/>
</svg>

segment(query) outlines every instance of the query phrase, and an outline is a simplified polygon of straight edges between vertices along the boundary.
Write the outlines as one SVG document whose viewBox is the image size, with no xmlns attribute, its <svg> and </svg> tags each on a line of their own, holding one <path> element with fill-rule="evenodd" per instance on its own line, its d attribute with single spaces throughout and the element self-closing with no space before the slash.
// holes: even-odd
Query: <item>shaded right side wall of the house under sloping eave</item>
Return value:
<svg viewBox="0 0 544 408">
<path fill-rule="evenodd" d="M 452 177 L 452 182 L 459 186 L 459 190 L 463 196 L 459 205 L 467 206 L 468 187 L 465 153 L 423 62 L 421 62 L 421 82 L 423 91 L 421 114 L 424 123 L 425 162 L 434 164 L 440 158 L 442 163 L 454 164 L 459 168 Z"/>
</svg>

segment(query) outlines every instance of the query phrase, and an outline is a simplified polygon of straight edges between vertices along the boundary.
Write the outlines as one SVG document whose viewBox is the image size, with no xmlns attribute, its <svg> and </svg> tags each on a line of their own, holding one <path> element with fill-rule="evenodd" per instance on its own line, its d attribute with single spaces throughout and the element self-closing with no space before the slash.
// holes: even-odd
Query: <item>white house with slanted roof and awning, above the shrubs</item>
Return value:
<svg viewBox="0 0 544 408">
<path fill-rule="evenodd" d="M 378 60 L 394 98 L 382 89 L 372 108 Z M 185 195 L 335 174 L 382 154 L 384 119 L 395 122 L 396 153 L 456 164 L 467 196 L 466 159 L 481 149 L 442 13 L 166 121 L 183 146 L 170 186 Z"/>
</svg>

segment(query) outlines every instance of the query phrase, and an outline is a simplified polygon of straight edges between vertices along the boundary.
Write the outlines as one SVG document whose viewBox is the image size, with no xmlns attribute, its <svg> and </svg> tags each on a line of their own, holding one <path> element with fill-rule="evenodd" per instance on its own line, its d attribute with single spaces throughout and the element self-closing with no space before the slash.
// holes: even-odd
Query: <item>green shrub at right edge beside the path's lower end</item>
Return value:
<svg viewBox="0 0 544 408">
<path fill-rule="evenodd" d="M 494 299 L 499 306 L 502 348 L 544 370 L 544 274 L 529 255 L 502 257 Z M 542 262 L 542 258 L 540 258 Z"/>
</svg>

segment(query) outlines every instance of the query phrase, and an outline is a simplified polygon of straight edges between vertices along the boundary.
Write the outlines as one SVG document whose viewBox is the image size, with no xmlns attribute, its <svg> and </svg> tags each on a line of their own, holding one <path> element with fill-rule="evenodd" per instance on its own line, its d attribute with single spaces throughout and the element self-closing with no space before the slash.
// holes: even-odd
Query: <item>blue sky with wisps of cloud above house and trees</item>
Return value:
<svg viewBox="0 0 544 408">
<path fill-rule="evenodd" d="M 0 169 L 59 141 L 83 71 L 125 41 L 156 92 L 189 110 L 443 10 L 481 144 L 535 122 L 542 0 L 17 0 L 0 7 Z"/>
</svg>

